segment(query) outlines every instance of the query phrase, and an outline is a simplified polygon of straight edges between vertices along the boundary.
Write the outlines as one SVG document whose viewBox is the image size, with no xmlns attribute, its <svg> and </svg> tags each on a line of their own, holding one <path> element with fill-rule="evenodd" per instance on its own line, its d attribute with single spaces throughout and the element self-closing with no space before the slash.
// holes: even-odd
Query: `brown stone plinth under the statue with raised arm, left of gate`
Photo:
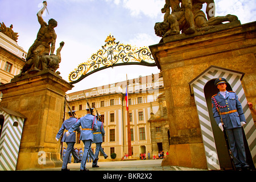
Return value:
<svg viewBox="0 0 256 182">
<path fill-rule="evenodd" d="M 1 106 L 27 117 L 16 169 L 61 167 L 56 133 L 63 122 L 65 92 L 73 85 L 51 71 L 15 77 L 1 85 Z"/>
</svg>

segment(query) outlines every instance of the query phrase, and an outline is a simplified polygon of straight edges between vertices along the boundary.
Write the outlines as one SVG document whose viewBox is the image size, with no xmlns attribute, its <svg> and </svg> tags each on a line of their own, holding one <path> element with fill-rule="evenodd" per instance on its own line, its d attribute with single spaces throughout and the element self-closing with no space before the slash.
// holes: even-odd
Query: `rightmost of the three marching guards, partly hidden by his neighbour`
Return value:
<svg viewBox="0 0 256 182">
<path fill-rule="evenodd" d="M 98 115 L 96 115 L 96 117 L 98 119 Z M 93 143 L 96 143 L 96 150 L 94 154 L 96 158 L 98 158 L 98 154 L 100 152 L 102 136 L 105 136 L 103 122 L 97 120 L 97 123 L 98 123 L 98 129 L 93 133 Z M 98 161 L 96 161 L 96 163 L 93 162 L 92 167 L 99 167 L 97 163 Z"/>
</svg>

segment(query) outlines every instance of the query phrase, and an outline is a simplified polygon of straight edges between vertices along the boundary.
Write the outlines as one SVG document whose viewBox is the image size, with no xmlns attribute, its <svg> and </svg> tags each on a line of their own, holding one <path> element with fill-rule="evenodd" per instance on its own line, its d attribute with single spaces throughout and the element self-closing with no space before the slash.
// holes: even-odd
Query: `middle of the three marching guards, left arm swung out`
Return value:
<svg viewBox="0 0 256 182">
<path fill-rule="evenodd" d="M 82 142 L 84 143 L 84 154 L 82 155 L 80 171 L 89 171 L 89 169 L 86 169 L 86 160 L 88 158 L 90 146 L 93 142 L 93 131 L 96 131 L 98 129 L 96 117 L 90 114 L 89 109 L 86 110 L 87 114 L 84 117 L 81 117 L 79 121 L 75 123 L 75 125 L 71 126 L 71 128 L 66 133 L 66 136 L 69 136 L 73 131 L 79 129 L 79 126 L 82 127 L 80 140 L 82 140 Z M 94 162 L 96 162 L 96 160 L 98 159 L 94 160 Z"/>
</svg>

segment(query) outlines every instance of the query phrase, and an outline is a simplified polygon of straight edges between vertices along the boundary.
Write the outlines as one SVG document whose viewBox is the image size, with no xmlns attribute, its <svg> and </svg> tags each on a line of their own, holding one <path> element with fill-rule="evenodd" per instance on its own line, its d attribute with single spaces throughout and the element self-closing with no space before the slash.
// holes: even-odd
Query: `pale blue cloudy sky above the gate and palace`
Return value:
<svg viewBox="0 0 256 182">
<path fill-rule="evenodd" d="M 0 0 L 0 22 L 7 27 L 13 24 L 13 31 L 19 33 L 18 45 L 26 52 L 40 28 L 36 13 L 43 7 L 42 2 Z M 216 16 L 236 15 L 241 24 L 256 20 L 255 0 L 215 0 L 215 3 Z M 43 19 L 48 22 L 53 18 L 58 22 L 55 53 L 59 43 L 65 42 L 57 69 L 60 76 L 68 81 L 69 73 L 101 49 L 109 34 L 115 42 L 131 46 L 158 44 L 160 38 L 155 35 L 154 26 L 156 22 L 163 22 L 164 4 L 164 0 L 48 0 L 49 14 L 45 11 Z M 133 79 L 159 72 L 157 67 L 141 65 L 107 68 L 73 84 L 74 88 L 67 93 L 125 81 L 126 75 Z"/>
</svg>

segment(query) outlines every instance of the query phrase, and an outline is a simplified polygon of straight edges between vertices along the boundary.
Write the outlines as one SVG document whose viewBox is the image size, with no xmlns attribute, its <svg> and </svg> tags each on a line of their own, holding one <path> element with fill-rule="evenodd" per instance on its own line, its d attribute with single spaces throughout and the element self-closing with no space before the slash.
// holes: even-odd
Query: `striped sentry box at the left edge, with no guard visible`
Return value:
<svg viewBox="0 0 256 182">
<path fill-rule="evenodd" d="M 0 107 L 0 118 L 3 120 L 0 138 L 0 171 L 15 171 L 26 117 L 16 111 Z"/>
</svg>

